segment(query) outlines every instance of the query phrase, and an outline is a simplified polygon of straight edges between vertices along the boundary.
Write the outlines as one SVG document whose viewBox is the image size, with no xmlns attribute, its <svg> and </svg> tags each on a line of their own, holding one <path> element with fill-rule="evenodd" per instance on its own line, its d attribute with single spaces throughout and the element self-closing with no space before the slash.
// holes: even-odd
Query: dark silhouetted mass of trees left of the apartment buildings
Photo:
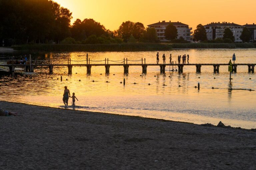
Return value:
<svg viewBox="0 0 256 170">
<path fill-rule="evenodd" d="M 123 22 L 115 31 L 93 19 L 77 19 L 71 25 L 72 12 L 51 0 L 0 0 L 0 18 L 5 46 L 158 42 L 156 30 L 140 22 Z"/>
</svg>

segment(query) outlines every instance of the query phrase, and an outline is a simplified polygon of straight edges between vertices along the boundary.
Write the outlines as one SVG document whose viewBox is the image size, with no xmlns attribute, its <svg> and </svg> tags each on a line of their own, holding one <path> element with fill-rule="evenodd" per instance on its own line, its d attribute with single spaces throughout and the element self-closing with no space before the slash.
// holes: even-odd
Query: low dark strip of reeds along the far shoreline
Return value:
<svg viewBox="0 0 256 170">
<path fill-rule="evenodd" d="M 256 48 L 256 43 L 122 43 L 122 44 L 33 44 L 15 45 L 21 51 L 163 51 L 198 48 Z"/>
</svg>

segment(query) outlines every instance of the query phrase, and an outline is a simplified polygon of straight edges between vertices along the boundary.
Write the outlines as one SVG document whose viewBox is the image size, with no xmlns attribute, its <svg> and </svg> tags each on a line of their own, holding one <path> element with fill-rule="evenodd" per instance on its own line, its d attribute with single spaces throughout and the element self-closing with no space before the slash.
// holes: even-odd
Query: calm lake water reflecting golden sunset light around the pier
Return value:
<svg viewBox="0 0 256 170">
<path fill-rule="evenodd" d="M 47 60 L 52 58 L 53 63 L 67 63 L 68 58 L 85 60 L 86 53 L 33 53 L 32 58 Z M 178 55 L 189 54 L 190 63 L 228 63 L 235 53 L 236 63 L 256 63 L 256 49 L 172 50 L 159 51 L 159 53 L 160 63 L 163 53 L 167 62 L 171 53 L 174 61 L 177 61 Z M 25 53 L 2 53 L 0 60 L 23 54 Z M 89 53 L 91 60 L 146 58 L 146 63 L 155 63 L 155 56 L 156 51 Z M 72 61 L 72 63 L 77 62 Z M 128 63 L 141 63 L 141 61 L 128 61 Z M 227 66 L 220 66 L 220 73 L 213 73 L 213 66 L 202 66 L 202 73 L 196 73 L 195 66 L 184 66 L 184 73 L 181 74 L 170 72 L 169 66 L 166 67 L 165 74 L 160 73 L 158 66 L 148 66 L 147 74 L 142 74 L 141 66 L 130 66 L 129 74 L 123 73 L 122 66 L 111 66 L 108 75 L 105 74 L 104 66 L 92 66 L 90 75 L 86 74 L 86 67 L 73 67 L 72 75 L 67 74 L 67 67 L 54 67 L 53 74 L 48 74 L 48 68 L 44 67 L 35 68 L 34 74 L 18 72 L 21 74 L 0 75 L 0 100 L 63 108 L 63 90 L 64 86 L 68 86 L 70 92 L 75 92 L 79 100 L 76 102 L 77 110 L 197 124 L 217 125 L 222 121 L 225 125 L 234 127 L 256 128 L 256 91 L 228 90 L 229 88 L 256 90 L 256 76 L 248 73 L 247 66 L 237 67 L 237 73 L 232 74 L 231 83 L 229 83 Z M 120 84 L 124 78 L 125 86 Z M 200 90 L 194 88 L 198 82 Z M 71 100 L 69 102 L 71 105 Z"/>
</svg>

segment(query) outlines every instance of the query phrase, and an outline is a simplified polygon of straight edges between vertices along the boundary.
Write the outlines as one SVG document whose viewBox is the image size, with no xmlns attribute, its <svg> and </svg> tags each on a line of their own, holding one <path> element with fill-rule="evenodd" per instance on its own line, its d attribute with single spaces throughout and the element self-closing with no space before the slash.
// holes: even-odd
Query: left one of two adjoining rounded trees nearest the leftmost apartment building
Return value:
<svg viewBox="0 0 256 170">
<path fill-rule="evenodd" d="M 134 26 L 134 22 L 125 21 L 118 28 L 118 31 L 122 35 L 124 42 L 128 42 L 129 38 L 131 37 L 133 32 L 133 26 Z"/>
</svg>

